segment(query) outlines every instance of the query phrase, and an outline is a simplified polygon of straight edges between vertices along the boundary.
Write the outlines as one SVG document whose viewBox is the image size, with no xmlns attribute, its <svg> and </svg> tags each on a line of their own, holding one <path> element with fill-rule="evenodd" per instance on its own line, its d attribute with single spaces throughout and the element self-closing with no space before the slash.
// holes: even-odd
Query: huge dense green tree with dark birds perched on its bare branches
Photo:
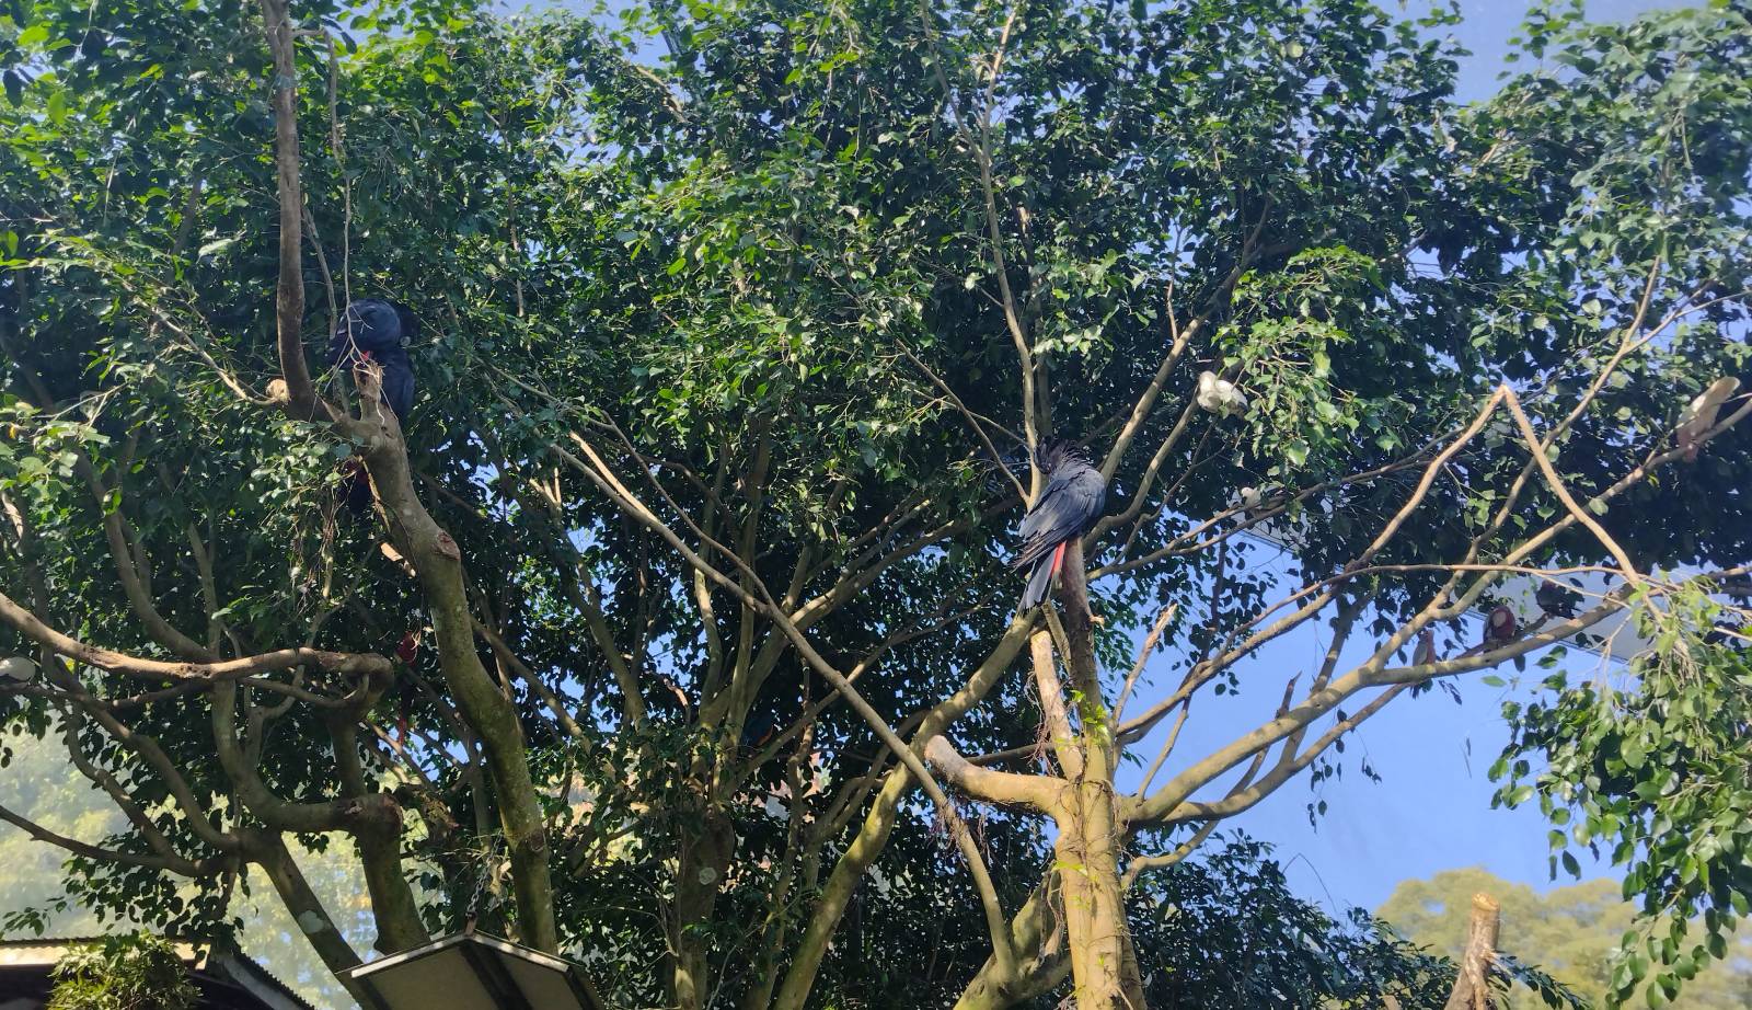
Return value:
<svg viewBox="0 0 1752 1010">
<path fill-rule="evenodd" d="M 1141 877 L 1400 696 L 1626 612 L 1703 649 L 1673 601 L 1745 556 L 1752 402 L 1671 438 L 1743 368 L 1740 5 L 1540 12 L 1473 109 L 1367 4 L 12 25 L 4 717 L 133 826 L 37 833 L 93 901 L 265 878 L 343 970 L 287 845 L 340 831 L 378 949 L 478 921 L 604 1003 L 832 1003 L 865 907 L 967 896 L 962 1006 L 1139 1006 Z M 433 333 L 406 426 L 312 366 L 363 293 Z M 1114 505 L 1014 614 L 1053 435 Z M 1282 705 L 1134 754 L 1242 689 Z"/>
</svg>

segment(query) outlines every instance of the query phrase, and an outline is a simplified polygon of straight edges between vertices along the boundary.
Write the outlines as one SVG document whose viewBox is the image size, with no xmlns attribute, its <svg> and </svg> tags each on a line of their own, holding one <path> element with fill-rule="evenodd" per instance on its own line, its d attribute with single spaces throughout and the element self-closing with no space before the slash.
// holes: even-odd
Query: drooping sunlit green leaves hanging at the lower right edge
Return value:
<svg viewBox="0 0 1752 1010">
<path fill-rule="evenodd" d="M 1624 868 L 1624 896 L 1643 919 L 1621 945 L 1619 1001 L 1638 992 L 1652 964 L 1670 971 L 1647 992 L 1670 999 L 1698 964 L 1724 957 L 1752 893 L 1752 666 L 1741 649 L 1685 631 L 1710 628 L 1706 600 L 1692 594 L 1675 608 L 1701 615 L 1668 617 L 1673 633 L 1650 628 L 1657 645 L 1622 686 L 1570 686 L 1559 675 L 1549 700 L 1508 707 L 1515 736 L 1491 770 L 1505 782 L 1503 803 L 1538 794 L 1552 822 L 1573 819 L 1568 836 L 1552 831 L 1554 861 L 1572 875 L 1575 849 Z M 1544 770 L 1526 759 L 1510 768 L 1510 756 L 1538 756 Z M 1685 942 L 1696 924 L 1701 942 Z"/>
</svg>

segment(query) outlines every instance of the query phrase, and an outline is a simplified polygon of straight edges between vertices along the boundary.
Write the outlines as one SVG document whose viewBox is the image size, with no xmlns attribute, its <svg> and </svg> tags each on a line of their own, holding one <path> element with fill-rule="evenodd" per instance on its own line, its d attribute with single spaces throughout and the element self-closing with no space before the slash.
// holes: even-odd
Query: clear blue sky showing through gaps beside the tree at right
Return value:
<svg viewBox="0 0 1752 1010">
<path fill-rule="evenodd" d="M 1699 4 L 1659 0 L 1591 0 L 1587 16 L 1619 21 L 1654 9 Z M 1395 4 L 1384 0 L 1393 11 Z M 1398 5 L 1417 12 L 1423 4 Z M 1459 96 L 1477 100 L 1498 86 L 1498 74 L 1508 65 L 1508 39 L 1515 35 L 1526 0 L 1463 0 L 1465 23 L 1454 33 L 1472 56 L 1461 65 Z M 1524 67 L 1524 65 L 1515 65 Z M 1302 629 L 1268 645 L 1253 661 L 1260 687 L 1240 698 L 1200 698 L 1193 717 L 1176 747 L 1176 754 L 1195 758 L 1232 740 L 1237 731 L 1270 717 L 1282 691 L 1286 672 L 1307 673 L 1319 666 L 1326 649 L 1326 628 Z M 1572 672 L 1591 665 L 1575 656 Z M 1400 880 L 1430 877 L 1456 866 L 1484 866 L 1498 877 L 1526 882 L 1537 889 L 1551 886 L 1545 833 L 1549 826 L 1537 807 L 1491 810 L 1491 786 L 1486 772 L 1508 742 L 1500 717 L 1501 701 L 1514 689 L 1514 668 L 1500 672 L 1510 689 L 1486 687 L 1477 677 L 1461 684 L 1463 705 L 1445 693 L 1398 698 L 1379 715 L 1358 728 L 1342 758 L 1342 779 L 1328 780 L 1318 791 L 1307 777 L 1284 784 L 1274 796 L 1230 821 L 1232 828 L 1277 845 L 1291 886 L 1303 898 L 1332 910 L 1351 905 L 1377 908 Z M 1537 682 L 1542 672 L 1529 666 L 1522 680 Z M 1177 679 L 1176 679 L 1177 682 Z M 1246 675 L 1242 677 L 1246 684 Z M 1275 687 L 1274 687 L 1275 684 Z M 1170 684 L 1172 687 L 1172 684 Z M 1526 689 L 1519 691 L 1526 698 Z M 1148 707 L 1132 703 L 1132 712 Z M 1158 731 L 1160 740 L 1160 731 Z M 1146 742 L 1139 752 L 1153 758 Z M 1358 770 L 1358 759 L 1381 773 L 1379 784 Z M 1170 759 L 1169 770 L 1174 761 Z M 1137 772 L 1134 770 L 1134 775 Z M 1160 779 L 1158 779 L 1160 782 Z M 1309 822 L 1310 801 L 1325 800 L 1326 815 Z M 1589 866 L 1586 875 L 1615 875 L 1608 864 Z M 1566 884 L 1568 877 L 1558 880 Z"/>
</svg>

